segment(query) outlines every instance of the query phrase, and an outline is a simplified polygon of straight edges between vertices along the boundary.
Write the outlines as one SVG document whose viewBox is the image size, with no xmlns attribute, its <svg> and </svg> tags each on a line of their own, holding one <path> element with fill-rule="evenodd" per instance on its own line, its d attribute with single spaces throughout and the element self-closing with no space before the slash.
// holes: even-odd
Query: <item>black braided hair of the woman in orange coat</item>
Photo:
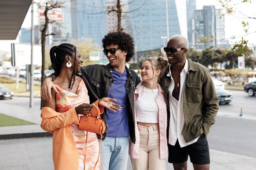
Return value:
<svg viewBox="0 0 256 170">
<path fill-rule="evenodd" d="M 72 71 L 72 75 L 70 78 L 70 83 L 68 88 L 72 90 L 74 82 L 75 82 L 75 65 L 76 65 L 76 47 L 72 44 L 64 43 L 60 44 L 58 46 L 53 46 L 50 49 L 50 58 L 52 62 L 52 68 L 55 71 L 55 75 L 58 76 L 61 71 L 61 66 L 63 65 L 63 62 L 65 62 L 65 56 L 69 55 L 72 56 L 74 54 L 74 68 Z"/>
</svg>

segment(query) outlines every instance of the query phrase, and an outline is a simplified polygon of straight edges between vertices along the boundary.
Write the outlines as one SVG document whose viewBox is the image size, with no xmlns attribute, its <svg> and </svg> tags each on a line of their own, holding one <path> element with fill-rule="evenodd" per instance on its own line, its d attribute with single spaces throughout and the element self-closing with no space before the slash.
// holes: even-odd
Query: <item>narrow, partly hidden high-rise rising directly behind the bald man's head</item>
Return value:
<svg viewBox="0 0 256 170">
<path fill-rule="evenodd" d="M 196 0 L 186 0 L 186 19 L 187 19 L 189 47 L 195 46 L 195 33 L 194 33 L 195 10 L 196 10 Z"/>
</svg>

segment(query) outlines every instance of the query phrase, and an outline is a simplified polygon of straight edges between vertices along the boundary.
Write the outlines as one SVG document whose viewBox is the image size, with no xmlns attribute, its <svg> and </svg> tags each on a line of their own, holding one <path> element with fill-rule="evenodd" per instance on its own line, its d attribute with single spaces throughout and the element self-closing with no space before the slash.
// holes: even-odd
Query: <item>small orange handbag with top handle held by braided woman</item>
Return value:
<svg viewBox="0 0 256 170">
<path fill-rule="evenodd" d="M 97 117 L 83 115 L 79 123 L 79 129 L 86 130 L 88 132 L 94 132 L 99 135 L 103 134 L 106 129 L 106 125 L 103 119 L 101 119 L 101 112 L 97 106 L 93 106 L 96 109 L 97 113 L 91 113 L 92 115 L 97 115 Z"/>
</svg>

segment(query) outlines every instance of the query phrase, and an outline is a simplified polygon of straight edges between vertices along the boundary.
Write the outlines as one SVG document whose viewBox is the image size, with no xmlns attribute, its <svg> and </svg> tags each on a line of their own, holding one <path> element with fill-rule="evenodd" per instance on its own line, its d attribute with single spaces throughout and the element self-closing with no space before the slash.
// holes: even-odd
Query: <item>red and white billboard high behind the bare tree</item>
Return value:
<svg viewBox="0 0 256 170">
<path fill-rule="evenodd" d="M 45 20 L 45 9 L 38 9 L 39 12 L 39 20 L 44 21 Z M 54 8 L 52 10 L 49 10 L 47 13 L 47 16 L 49 18 L 49 21 L 54 22 L 63 22 L 63 15 L 62 15 L 62 8 Z"/>
</svg>

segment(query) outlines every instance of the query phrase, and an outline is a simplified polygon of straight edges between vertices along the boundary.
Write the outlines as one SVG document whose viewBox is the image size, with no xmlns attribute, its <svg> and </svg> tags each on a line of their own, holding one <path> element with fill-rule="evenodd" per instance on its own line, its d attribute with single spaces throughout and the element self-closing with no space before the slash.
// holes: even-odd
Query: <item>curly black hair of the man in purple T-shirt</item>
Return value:
<svg viewBox="0 0 256 170">
<path fill-rule="evenodd" d="M 106 46 L 118 45 L 122 51 L 126 51 L 126 62 L 129 62 L 135 54 L 135 46 L 133 38 L 130 34 L 123 31 L 110 32 L 102 39 L 102 46 L 106 49 Z"/>
</svg>

